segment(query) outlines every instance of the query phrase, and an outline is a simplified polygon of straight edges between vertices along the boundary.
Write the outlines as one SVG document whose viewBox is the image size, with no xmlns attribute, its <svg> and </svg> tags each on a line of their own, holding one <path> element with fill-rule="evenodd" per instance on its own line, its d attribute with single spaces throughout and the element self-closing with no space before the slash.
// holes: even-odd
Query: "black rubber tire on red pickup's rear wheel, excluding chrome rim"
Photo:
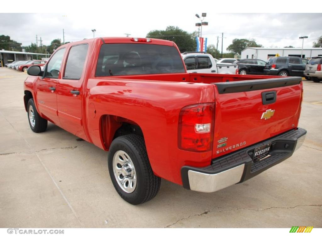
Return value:
<svg viewBox="0 0 322 241">
<path fill-rule="evenodd" d="M 116 152 L 124 151 L 132 161 L 136 172 L 136 187 L 133 192 L 125 192 L 116 179 L 113 170 L 113 158 Z M 115 138 L 109 148 L 108 154 L 109 175 L 115 190 L 125 201 L 137 205 L 154 198 L 159 192 L 161 178 L 153 174 L 141 136 L 129 134 Z"/>
</svg>

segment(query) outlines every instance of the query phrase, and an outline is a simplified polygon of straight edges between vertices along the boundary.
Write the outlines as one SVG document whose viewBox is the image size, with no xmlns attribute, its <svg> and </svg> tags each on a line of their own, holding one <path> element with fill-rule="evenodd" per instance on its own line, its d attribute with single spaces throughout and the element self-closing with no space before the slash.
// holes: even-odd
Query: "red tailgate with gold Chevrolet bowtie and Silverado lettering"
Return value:
<svg viewBox="0 0 322 241">
<path fill-rule="evenodd" d="M 284 77 L 214 83 L 213 158 L 294 129 L 302 78 Z"/>
</svg>

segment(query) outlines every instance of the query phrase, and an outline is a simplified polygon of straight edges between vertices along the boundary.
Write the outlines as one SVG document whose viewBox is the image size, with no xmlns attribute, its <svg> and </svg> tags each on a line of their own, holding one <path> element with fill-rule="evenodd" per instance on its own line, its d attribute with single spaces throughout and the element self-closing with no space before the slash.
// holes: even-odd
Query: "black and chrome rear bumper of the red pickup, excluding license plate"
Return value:
<svg viewBox="0 0 322 241">
<path fill-rule="evenodd" d="M 183 166 L 181 168 L 183 186 L 198 192 L 215 192 L 244 182 L 292 156 L 294 151 L 303 144 L 305 136 L 305 129 L 293 129 L 213 159 L 209 166 L 202 168 Z M 270 156 L 254 163 L 255 148 L 268 143 L 272 143 Z"/>
</svg>

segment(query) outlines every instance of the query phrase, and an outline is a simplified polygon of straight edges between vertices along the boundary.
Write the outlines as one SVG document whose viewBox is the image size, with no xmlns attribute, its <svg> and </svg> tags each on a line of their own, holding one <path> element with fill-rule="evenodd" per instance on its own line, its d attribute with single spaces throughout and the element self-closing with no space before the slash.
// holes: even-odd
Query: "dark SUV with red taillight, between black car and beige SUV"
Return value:
<svg viewBox="0 0 322 241">
<path fill-rule="evenodd" d="M 267 60 L 264 72 L 267 75 L 301 76 L 308 63 L 306 58 L 299 57 L 271 57 Z"/>
</svg>

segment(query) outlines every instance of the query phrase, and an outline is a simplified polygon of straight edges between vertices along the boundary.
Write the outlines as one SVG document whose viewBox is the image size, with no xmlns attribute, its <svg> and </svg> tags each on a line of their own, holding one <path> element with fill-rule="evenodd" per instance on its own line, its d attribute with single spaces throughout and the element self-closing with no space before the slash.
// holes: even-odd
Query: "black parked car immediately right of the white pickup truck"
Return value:
<svg viewBox="0 0 322 241">
<path fill-rule="evenodd" d="M 240 75 L 264 75 L 266 62 L 260 59 L 244 58 L 234 62 Z"/>
</svg>

